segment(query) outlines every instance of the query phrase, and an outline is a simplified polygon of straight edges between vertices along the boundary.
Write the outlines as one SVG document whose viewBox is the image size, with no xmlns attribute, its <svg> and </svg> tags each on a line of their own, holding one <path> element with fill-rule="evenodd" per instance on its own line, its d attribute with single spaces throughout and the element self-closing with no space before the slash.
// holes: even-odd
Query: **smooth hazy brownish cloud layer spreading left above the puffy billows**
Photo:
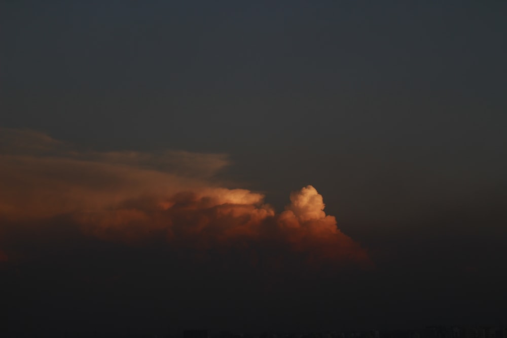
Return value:
<svg viewBox="0 0 507 338">
<path fill-rule="evenodd" d="M 212 186 L 224 154 L 77 152 L 47 135 L 0 130 L 0 215 L 32 219 L 112 208 L 140 196 Z"/>
</svg>

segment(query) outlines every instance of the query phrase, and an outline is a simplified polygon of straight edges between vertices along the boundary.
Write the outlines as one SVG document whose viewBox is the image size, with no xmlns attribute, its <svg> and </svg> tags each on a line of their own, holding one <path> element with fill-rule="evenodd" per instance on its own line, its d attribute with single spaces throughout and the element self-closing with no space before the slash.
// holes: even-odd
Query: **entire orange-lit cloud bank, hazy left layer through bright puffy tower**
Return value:
<svg viewBox="0 0 507 338">
<path fill-rule="evenodd" d="M 84 234 L 108 241 L 162 236 L 172 247 L 196 250 L 270 243 L 311 263 L 369 262 L 324 213 L 311 185 L 276 213 L 262 194 L 213 183 L 229 165 L 223 154 L 76 152 L 44 134 L 8 131 L 0 154 L 0 216 L 9 224 L 37 226 L 66 215 Z M 32 144 L 38 140 L 40 146 Z"/>
</svg>

